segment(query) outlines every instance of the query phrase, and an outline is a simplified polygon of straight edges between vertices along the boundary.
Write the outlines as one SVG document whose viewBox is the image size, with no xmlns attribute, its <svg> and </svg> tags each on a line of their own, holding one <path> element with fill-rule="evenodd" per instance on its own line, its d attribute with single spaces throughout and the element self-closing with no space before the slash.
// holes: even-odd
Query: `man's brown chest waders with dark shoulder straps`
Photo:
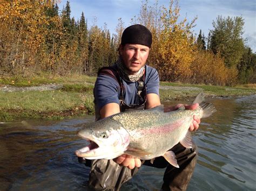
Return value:
<svg viewBox="0 0 256 191">
<path fill-rule="evenodd" d="M 120 86 L 120 111 L 127 110 L 142 110 L 146 103 L 146 87 L 144 84 L 145 74 L 139 79 L 138 97 L 139 104 L 128 105 L 124 101 L 124 86 L 122 79 L 113 67 L 104 67 L 99 70 L 99 74 L 109 75 L 117 80 Z M 193 143 L 192 148 L 185 148 L 181 144 L 175 145 L 170 149 L 176 154 L 177 162 L 180 168 L 173 167 L 167 162 L 164 157 L 157 157 L 153 164 L 150 160 L 143 160 L 142 164 L 157 168 L 166 168 L 164 173 L 164 183 L 161 190 L 186 190 L 191 179 L 194 167 L 197 161 L 197 146 Z M 89 185 L 95 190 L 119 190 L 124 182 L 132 178 L 138 172 L 137 167 L 129 169 L 125 166 L 120 166 L 116 162 L 106 159 L 95 159 L 83 161 L 78 158 L 80 163 L 85 163 L 91 167 L 89 175 Z M 152 171 L 154 169 L 152 168 Z"/>
</svg>

